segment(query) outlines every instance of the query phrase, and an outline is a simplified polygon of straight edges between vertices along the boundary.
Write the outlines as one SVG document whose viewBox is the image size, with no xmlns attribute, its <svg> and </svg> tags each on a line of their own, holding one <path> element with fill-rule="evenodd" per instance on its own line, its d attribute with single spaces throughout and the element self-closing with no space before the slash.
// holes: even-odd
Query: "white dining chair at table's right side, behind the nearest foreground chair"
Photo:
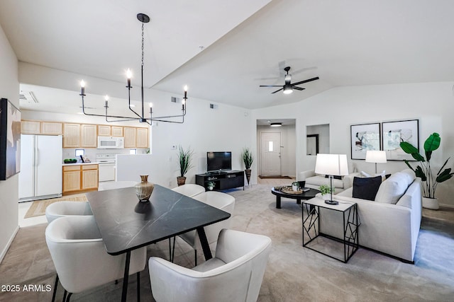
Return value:
<svg viewBox="0 0 454 302">
<path fill-rule="evenodd" d="M 233 215 L 233 210 L 235 209 L 235 197 L 229 194 L 217 191 L 207 191 L 197 194 L 192 198 Z M 216 241 L 218 240 L 219 232 L 223 228 L 230 228 L 231 219 L 232 216 L 230 216 L 229 219 L 219 221 L 217 223 L 213 223 L 209 226 L 204 227 L 206 239 L 208 240 L 209 245 L 216 243 Z M 179 237 L 182 238 L 187 244 L 191 245 L 194 249 L 194 262 L 195 265 L 197 265 L 197 250 L 201 250 L 201 243 L 197 231 L 194 230 L 187 233 L 182 233 L 181 235 L 179 235 Z M 172 248 L 171 261 L 173 260 L 174 254 L 175 240 Z"/>
</svg>

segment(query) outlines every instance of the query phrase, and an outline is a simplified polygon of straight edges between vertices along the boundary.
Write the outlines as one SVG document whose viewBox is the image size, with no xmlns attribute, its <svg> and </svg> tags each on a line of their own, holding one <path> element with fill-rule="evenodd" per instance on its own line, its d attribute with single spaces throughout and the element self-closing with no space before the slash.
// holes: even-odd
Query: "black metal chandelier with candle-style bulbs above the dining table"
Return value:
<svg viewBox="0 0 454 302">
<path fill-rule="evenodd" d="M 84 115 L 91 115 L 91 116 L 96 116 L 96 117 L 106 117 L 106 122 L 126 122 L 126 121 L 131 121 L 131 120 L 138 120 L 139 122 L 146 122 L 148 124 L 152 124 L 153 121 L 157 121 L 157 122 L 173 122 L 173 123 L 178 123 L 178 124 L 182 124 L 184 123 L 184 115 L 186 115 L 186 106 L 187 106 L 187 86 L 184 86 L 184 97 L 182 99 L 182 112 L 181 114 L 179 115 L 167 115 L 167 116 L 161 116 L 161 117 L 153 117 L 153 107 L 150 103 L 150 117 L 145 117 L 145 103 L 144 103 L 144 100 L 143 100 L 143 25 L 144 23 L 148 23 L 150 22 L 150 17 L 148 17 L 147 15 L 145 15 L 145 13 L 138 13 L 137 14 L 137 19 L 138 21 L 140 21 L 142 23 L 142 64 L 140 66 L 140 75 L 141 75 L 141 86 L 140 86 L 140 95 L 141 95 L 141 100 L 142 100 L 142 110 L 140 113 L 138 112 L 135 112 L 135 110 L 133 110 L 133 105 L 131 104 L 131 88 L 133 88 L 133 86 L 131 86 L 131 76 L 132 76 L 132 73 L 131 73 L 131 70 L 128 69 L 128 71 L 126 71 L 126 78 L 127 78 L 127 83 L 128 85 L 126 86 L 126 88 L 128 88 L 128 108 L 129 110 L 131 110 L 131 112 L 133 112 L 134 115 L 136 115 L 135 117 L 122 117 L 122 116 L 118 116 L 118 115 L 109 115 L 107 113 L 107 110 L 109 108 L 109 96 L 106 95 L 105 97 L 105 101 L 104 101 L 104 108 L 105 109 L 105 114 L 104 115 L 99 115 L 99 114 L 94 114 L 94 113 L 87 113 L 85 112 L 85 104 L 84 104 L 84 96 L 85 95 L 85 82 L 84 80 L 82 80 L 80 82 L 80 96 L 82 97 L 82 112 L 84 113 Z M 108 117 L 111 117 L 111 118 L 116 118 L 116 119 L 120 119 L 120 120 L 109 120 Z M 175 120 L 175 119 L 179 119 L 179 120 Z"/>
</svg>

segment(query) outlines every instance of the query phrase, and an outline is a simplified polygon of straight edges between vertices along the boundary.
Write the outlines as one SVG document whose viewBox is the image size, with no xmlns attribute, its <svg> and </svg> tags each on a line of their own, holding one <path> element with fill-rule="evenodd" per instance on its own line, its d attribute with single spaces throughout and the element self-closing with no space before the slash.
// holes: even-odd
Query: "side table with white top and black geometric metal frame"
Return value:
<svg viewBox="0 0 454 302">
<path fill-rule="evenodd" d="M 350 257 L 355 254 L 359 247 L 358 227 L 360 226 L 360 221 L 358 218 L 357 204 L 353 202 L 339 202 L 339 204 L 331 205 L 326 204 L 323 199 L 316 197 L 305 200 L 303 202 L 303 207 L 301 208 L 303 221 L 303 246 L 344 263 L 348 262 Z M 330 211 L 342 212 L 343 239 L 320 233 L 321 208 L 328 209 Z M 337 243 L 343 243 L 343 258 L 328 255 L 327 253 L 322 252 L 320 248 L 316 248 L 316 244 L 314 243 L 316 243 L 316 238 L 319 238 L 319 236 L 334 240 Z M 307 237 L 307 241 L 305 241 L 305 237 Z"/>
</svg>

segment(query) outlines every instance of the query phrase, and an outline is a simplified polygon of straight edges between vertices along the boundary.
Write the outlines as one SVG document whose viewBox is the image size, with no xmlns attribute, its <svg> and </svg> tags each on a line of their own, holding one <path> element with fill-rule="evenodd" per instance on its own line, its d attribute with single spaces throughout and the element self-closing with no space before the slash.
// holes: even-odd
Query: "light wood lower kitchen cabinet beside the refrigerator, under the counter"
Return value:
<svg viewBox="0 0 454 302">
<path fill-rule="evenodd" d="M 63 195 L 98 190 L 98 165 L 64 165 Z"/>
</svg>

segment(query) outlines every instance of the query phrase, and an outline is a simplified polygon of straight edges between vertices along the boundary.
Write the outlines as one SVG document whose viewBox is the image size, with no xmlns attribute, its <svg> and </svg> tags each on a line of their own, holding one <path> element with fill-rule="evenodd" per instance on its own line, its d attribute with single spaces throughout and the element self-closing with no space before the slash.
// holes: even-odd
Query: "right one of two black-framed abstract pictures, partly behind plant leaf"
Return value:
<svg viewBox="0 0 454 302">
<path fill-rule="evenodd" d="M 407 141 L 419 150 L 419 120 L 404 120 L 383 122 L 383 150 L 388 161 L 414 161 L 410 154 L 400 147 L 402 141 Z"/>
</svg>

